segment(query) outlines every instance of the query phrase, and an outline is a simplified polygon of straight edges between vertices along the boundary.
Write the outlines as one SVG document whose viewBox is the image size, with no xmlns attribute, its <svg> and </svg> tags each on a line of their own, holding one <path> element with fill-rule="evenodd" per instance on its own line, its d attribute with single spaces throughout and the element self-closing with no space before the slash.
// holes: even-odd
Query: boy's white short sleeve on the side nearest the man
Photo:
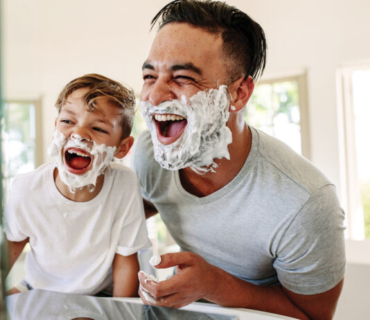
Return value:
<svg viewBox="0 0 370 320">
<path fill-rule="evenodd" d="M 124 204 L 126 214 L 116 249 L 116 254 L 121 254 L 122 256 L 130 256 L 139 250 L 152 246 L 148 238 L 148 230 L 146 229 L 146 217 L 139 181 L 134 176 L 134 172 L 132 172 L 132 175 L 132 194 Z"/>
</svg>

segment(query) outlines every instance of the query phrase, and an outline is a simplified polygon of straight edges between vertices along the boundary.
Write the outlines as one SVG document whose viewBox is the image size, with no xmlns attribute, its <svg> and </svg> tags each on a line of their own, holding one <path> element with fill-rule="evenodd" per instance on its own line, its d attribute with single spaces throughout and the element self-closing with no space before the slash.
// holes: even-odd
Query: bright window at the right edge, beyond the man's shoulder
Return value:
<svg viewBox="0 0 370 320">
<path fill-rule="evenodd" d="M 347 237 L 370 238 L 370 64 L 338 71 L 342 198 Z"/>
</svg>

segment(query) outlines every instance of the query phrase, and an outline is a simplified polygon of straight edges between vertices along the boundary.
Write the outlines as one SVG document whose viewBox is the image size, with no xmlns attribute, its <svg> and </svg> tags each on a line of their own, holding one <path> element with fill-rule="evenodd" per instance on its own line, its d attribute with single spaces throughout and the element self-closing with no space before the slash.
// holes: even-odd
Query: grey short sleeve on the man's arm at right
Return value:
<svg viewBox="0 0 370 320">
<path fill-rule="evenodd" d="M 326 292 L 344 276 L 344 212 L 333 185 L 326 185 L 303 205 L 276 244 L 281 285 L 297 294 Z"/>
</svg>

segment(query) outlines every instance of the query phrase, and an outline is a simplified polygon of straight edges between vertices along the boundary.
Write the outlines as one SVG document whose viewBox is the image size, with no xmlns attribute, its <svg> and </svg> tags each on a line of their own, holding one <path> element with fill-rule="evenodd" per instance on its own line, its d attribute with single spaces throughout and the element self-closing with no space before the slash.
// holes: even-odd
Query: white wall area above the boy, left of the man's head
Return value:
<svg viewBox="0 0 370 320">
<path fill-rule="evenodd" d="M 155 6 L 153 3 L 155 2 Z M 44 160 L 64 85 L 101 73 L 139 93 L 149 22 L 167 1 L 3 0 L 3 94 L 42 98 Z"/>
</svg>

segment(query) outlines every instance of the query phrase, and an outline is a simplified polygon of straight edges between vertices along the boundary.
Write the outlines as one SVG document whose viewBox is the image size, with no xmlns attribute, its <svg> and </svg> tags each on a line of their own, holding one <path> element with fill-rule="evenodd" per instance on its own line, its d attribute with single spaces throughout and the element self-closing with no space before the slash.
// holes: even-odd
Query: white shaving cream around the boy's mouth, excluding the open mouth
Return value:
<svg viewBox="0 0 370 320">
<path fill-rule="evenodd" d="M 64 184 L 69 186 L 71 193 L 75 193 L 76 189 L 88 186 L 89 191 L 93 192 L 96 185 L 96 179 L 98 176 L 103 174 L 105 168 L 114 158 L 116 147 L 110 147 L 103 144 L 96 144 L 95 141 L 86 141 L 78 134 L 71 135 L 69 139 L 64 136 L 58 130 L 55 130 L 53 134 L 53 141 L 48 149 L 50 157 L 55 157 L 57 161 L 58 173 L 60 179 Z M 76 175 L 67 170 L 67 166 L 64 164 L 64 152 L 63 149 L 67 148 L 78 148 L 85 150 L 91 156 L 94 157 L 91 169 L 85 172 L 83 175 Z"/>
</svg>

